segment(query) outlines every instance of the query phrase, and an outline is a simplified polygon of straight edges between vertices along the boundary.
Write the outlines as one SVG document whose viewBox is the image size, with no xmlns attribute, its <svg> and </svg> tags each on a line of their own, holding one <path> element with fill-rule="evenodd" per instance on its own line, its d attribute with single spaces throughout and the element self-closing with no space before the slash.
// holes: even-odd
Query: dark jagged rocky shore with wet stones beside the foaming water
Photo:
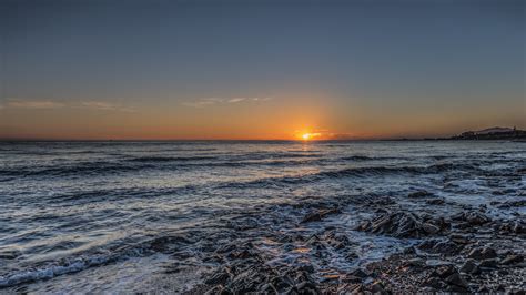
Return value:
<svg viewBox="0 0 526 295">
<path fill-rule="evenodd" d="M 361 205 L 354 204 L 354 208 L 371 211 L 371 217 L 347 231 L 411 243 L 397 253 L 357 264 L 348 272 L 326 271 L 334 262 L 334 253 L 350 262 L 358 257 L 345 230 L 327 225 L 311 235 L 260 232 L 282 251 L 305 254 L 287 264 L 274 264 L 275 252 L 265 248 L 261 236 L 250 234 L 252 230 L 257 232 L 257 223 L 252 226 L 250 218 L 240 220 L 239 225 L 247 225 L 242 228 L 247 231 L 246 237 L 215 248 L 204 261 L 216 267 L 203 275 L 203 284 L 188 293 L 525 293 L 526 223 L 522 214 L 515 212 L 510 218 L 492 217 L 487 214 L 492 208 L 486 205 L 448 204 L 425 191 L 411 193 L 405 200 L 435 207 L 449 206 L 453 213 L 413 212 L 391 197 L 360 200 L 356 204 Z M 496 208 L 524 206 L 520 202 L 493 205 Z M 313 208 L 299 220 L 300 225 L 338 218 L 348 204 L 311 206 Z"/>
</svg>

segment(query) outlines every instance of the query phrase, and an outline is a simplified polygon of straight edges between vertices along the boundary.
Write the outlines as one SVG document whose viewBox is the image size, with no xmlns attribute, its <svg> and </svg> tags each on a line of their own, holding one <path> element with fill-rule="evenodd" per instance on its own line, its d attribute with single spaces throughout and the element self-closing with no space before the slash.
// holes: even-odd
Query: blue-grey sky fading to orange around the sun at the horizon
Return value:
<svg viewBox="0 0 526 295">
<path fill-rule="evenodd" d="M 526 129 L 520 0 L 0 0 L 0 139 Z"/>
</svg>

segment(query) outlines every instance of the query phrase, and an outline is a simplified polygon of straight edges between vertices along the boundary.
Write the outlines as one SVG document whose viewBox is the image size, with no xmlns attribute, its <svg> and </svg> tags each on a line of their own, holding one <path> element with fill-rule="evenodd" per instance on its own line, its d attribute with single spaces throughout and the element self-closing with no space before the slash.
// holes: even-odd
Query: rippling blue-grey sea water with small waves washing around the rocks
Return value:
<svg viewBox="0 0 526 295">
<path fill-rule="evenodd" d="M 344 272 L 407 244 L 352 228 L 396 199 L 452 214 L 486 204 L 507 218 L 526 196 L 519 142 L 47 142 L 0 143 L 0 287 L 24 292 L 183 291 L 215 266 L 206 255 L 254 243 L 269 264 Z M 406 199 L 426 190 L 447 206 Z M 341 214 L 301 223 L 323 203 Z M 316 257 L 282 235 L 335 228 L 358 257 Z M 156 288 L 154 287 L 154 288 Z"/>
</svg>

